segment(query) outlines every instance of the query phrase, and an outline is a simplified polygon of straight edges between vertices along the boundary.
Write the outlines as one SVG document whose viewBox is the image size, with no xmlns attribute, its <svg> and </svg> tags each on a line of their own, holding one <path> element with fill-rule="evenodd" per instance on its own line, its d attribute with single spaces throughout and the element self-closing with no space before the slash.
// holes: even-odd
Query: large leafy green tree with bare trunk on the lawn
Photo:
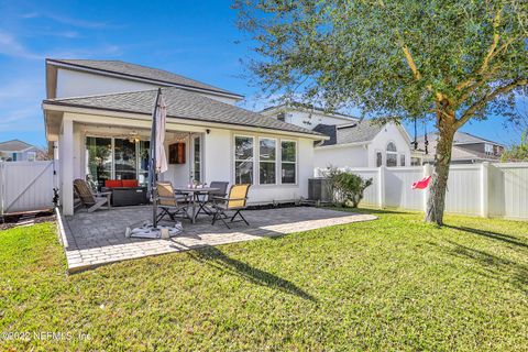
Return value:
<svg viewBox="0 0 528 352">
<path fill-rule="evenodd" d="M 426 221 L 442 224 L 453 135 L 526 95 L 524 0 L 237 0 L 262 90 L 327 110 L 433 119 L 440 138 Z M 387 118 L 391 117 L 391 118 Z"/>
</svg>

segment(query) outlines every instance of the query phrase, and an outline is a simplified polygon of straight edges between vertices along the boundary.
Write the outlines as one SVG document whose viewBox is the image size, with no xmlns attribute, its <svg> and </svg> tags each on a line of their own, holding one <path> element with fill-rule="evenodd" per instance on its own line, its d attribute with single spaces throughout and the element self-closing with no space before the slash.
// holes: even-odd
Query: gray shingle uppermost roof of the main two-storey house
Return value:
<svg viewBox="0 0 528 352">
<path fill-rule="evenodd" d="M 197 81 L 180 75 L 169 73 L 167 70 L 130 64 L 121 61 L 107 61 L 107 59 L 59 59 L 59 58 L 50 58 L 48 62 L 53 64 L 63 63 L 67 65 L 73 65 L 81 68 L 91 68 L 105 73 L 113 73 L 125 75 L 133 78 L 146 78 L 152 80 L 157 80 L 160 82 L 166 82 L 172 85 L 178 85 L 190 88 L 206 89 L 210 91 L 228 94 L 232 96 L 242 97 L 234 92 L 206 85 L 201 81 Z"/>
</svg>

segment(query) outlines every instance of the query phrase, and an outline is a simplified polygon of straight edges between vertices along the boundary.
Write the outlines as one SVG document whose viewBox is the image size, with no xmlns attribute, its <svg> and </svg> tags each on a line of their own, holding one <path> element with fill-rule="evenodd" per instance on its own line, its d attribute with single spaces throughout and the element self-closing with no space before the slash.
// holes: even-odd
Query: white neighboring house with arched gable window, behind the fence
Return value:
<svg viewBox="0 0 528 352">
<path fill-rule="evenodd" d="M 360 121 L 346 114 L 326 113 L 323 110 L 298 103 L 267 108 L 261 113 L 329 136 L 329 140 L 315 145 L 314 165 L 317 168 L 330 165 L 336 167 L 411 165 L 414 153 L 410 151 L 410 139 L 399 124 L 393 122 L 374 124 L 369 120 Z"/>
</svg>

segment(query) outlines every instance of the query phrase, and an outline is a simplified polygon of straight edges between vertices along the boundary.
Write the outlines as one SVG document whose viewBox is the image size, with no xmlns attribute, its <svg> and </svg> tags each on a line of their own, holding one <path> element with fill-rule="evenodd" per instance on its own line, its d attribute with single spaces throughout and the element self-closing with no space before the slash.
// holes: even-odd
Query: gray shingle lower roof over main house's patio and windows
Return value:
<svg viewBox="0 0 528 352">
<path fill-rule="evenodd" d="M 152 114 L 156 91 L 154 89 L 80 98 L 47 99 L 44 100 L 44 103 Z M 170 87 L 162 88 L 162 94 L 167 105 L 167 117 L 322 136 L 318 132 L 270 119 L 197 92 Z"/>
</svg>

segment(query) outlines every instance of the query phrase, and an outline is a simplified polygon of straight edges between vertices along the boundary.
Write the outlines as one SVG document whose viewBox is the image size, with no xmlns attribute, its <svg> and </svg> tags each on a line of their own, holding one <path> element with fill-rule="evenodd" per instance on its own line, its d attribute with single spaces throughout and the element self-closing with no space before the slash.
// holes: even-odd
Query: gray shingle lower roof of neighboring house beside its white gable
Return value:
<svg viewBox="0 0 528 352">
<path fill-rule="evenodd" d="M 330 136 L 330 140 L 324 141 L 324 143 L 320 145 L 334 145 L 370 142 L 377 135 L 377 133 L 380 133 L 380 131 L 382 131 L 383 127 L 383 124 L 375 124 L 371 123 L 369 120 L 363 120 L 346 125 L 319 124 L 314 131 Z"/>
</svg>

